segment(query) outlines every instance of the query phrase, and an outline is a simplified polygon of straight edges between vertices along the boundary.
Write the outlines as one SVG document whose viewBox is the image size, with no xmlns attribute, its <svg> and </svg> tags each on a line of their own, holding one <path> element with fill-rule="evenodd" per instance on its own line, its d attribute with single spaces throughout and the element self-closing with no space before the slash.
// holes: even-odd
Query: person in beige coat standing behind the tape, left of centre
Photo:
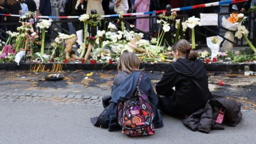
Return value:
<svg viewBox="0 0 256 144">
<path fill-rule="evenodd" d="M 86 13 L 91 13 L 91 10 L 96 10 L 97 13 L 104 15 L 101 0 L 87 0 L 87 10 Z"/>
</svg>

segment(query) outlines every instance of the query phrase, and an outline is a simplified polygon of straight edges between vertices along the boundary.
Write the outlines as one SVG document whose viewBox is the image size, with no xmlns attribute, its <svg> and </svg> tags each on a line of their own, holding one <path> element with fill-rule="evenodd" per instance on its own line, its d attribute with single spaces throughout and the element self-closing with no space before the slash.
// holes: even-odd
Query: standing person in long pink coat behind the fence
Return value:
<svg viewBox="0 0 256 144">
<path fill-rule="evenodd" d="M 149 12 L 150 0 L 135 0 L 134 9 L 136 12 Z M 138 15 L 138 17 L 148 17 L 147 15 Z M 137 17 L 137 16 L 136 16 Z M 149 31 L 149 19 L 137 19 L 136 28 L 145 32 Z"/>
</svg>

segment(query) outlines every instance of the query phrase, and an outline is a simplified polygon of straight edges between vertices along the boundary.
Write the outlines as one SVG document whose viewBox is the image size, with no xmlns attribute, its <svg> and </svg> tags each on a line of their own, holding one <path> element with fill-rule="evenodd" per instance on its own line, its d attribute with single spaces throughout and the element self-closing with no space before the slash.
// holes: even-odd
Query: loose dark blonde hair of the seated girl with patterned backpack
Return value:
<svg viewBox="0 0 256 144">
<path fill-rule="evenodd" d="M 125 71 L 126 73 L 132 73 L 133 71 L 139 70 L 140 59 L 132 52 L 124 51 L 117 64 L 117 71 Z"/>
</svg>

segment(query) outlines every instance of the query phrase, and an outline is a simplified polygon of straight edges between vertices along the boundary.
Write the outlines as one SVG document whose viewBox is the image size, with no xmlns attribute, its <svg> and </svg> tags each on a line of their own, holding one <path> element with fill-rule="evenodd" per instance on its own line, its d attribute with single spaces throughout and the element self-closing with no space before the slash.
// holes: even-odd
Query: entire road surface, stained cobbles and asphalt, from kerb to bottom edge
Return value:
<svg viewBox="0 0 256 144">
<path fill-rule="evenodd" d="M 0 71 L 0 144 L 2 143 L 255 143 L 256 76 L 209 73 L 210 89 L 243 103 L 243 120 L 210 134 L 192 132 L 180 119 L 163 116 L 165 126 L 150 137 L 129 138 L 94 127 L 90 117 L 103 110 L 115 71 L 65 71 L 60 82 L 48 73 Z M 162 73 L 149 74 L 153 85 Z M 218 81 L 223 81 L 223 86 Z M 230 95 L 232 95 L 230 97 Z"/>
</svg>

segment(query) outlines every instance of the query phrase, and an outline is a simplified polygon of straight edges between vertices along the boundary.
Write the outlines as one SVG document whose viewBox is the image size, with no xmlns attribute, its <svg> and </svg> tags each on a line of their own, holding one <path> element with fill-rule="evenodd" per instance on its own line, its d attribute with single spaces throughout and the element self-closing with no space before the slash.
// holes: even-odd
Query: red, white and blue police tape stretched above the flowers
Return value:
<svg viewBox="0 0 256 144">
<path fill-rule="evenodd" d="M 227 1 L 221 1 L 221 2 L 213 2 L 213 3 L 206 3 L 206 4 L 199 4 L 199 5 L 192 5 L 192 6 L 185 6 L 185 7 L 178 7 L 175 9 L 171 9 L 171 11 L 185 11 L 185 10 L 193 10 L 193 9 L 199 9 L 203 7 L 212 7 L 212 6 L 220 6 L 224 4 L 235 4 L 235 3 L 242 3 L 246 2 L 248 0 L 227 0 Z M 153 11 L 153 12 L 138 12 L 138 13 L 125 13 L 123 14 L 123 17 L 132 17 L 135 15 L 146 15 L 146 14 L 158 14 L 166 12 L 166 10 L 161 11 Z M 0 13 L 0 15 L 7 16 L 7 17 L 20 17 L 21 15 L 17 14 L 3 14 Z M 44 16 L 44 15 L 35 15 L 35 18 L 39 19 L 78 19 L 81 16 Z M 111 17 L 119 17 L 119 14 L 110 14 L 110 15 L 101 15 L 102 18 L 111 18 Z"/>
</svg>

